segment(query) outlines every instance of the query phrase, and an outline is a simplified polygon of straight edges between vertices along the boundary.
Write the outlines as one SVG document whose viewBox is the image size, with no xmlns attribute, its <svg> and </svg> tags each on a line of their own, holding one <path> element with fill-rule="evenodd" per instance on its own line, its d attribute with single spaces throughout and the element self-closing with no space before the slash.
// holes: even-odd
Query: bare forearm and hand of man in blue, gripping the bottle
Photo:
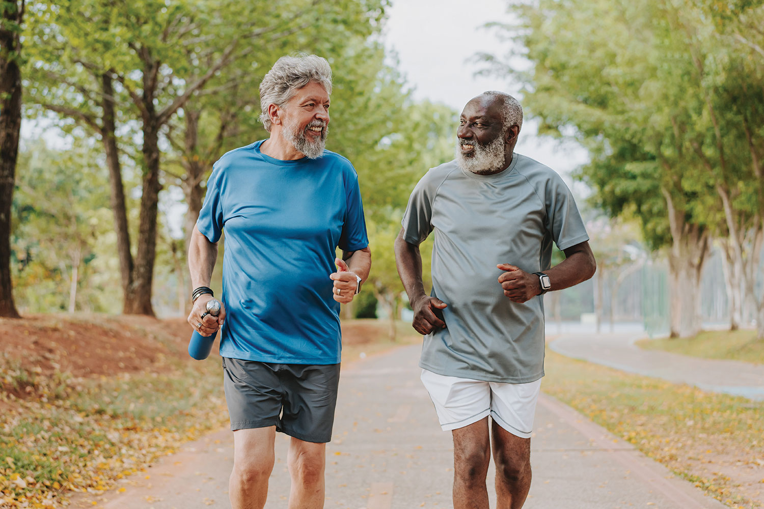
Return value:
<svg viewBox="0 0 764 509">
<path fill-rule="evenodd" d="M 210 242 L 207 237 L 202 235 L 199 229 L 194 226 L 189 243 L 189 272 L 191 272 L 191 286 L 209 286 L 212 280 L 212 269 L 215 269 L 215 260 L 218 259 L 218 244 Z M 188 322 L 191 326 L 199 330 L 202 336 L 209 336 L 217 331 L 225 321 L 225 308 L 221 304 L 220 314 L 217 317 L 207 314 L 202 318 L 206 311 L 207 301 L 212 299 L 212 295 L 205 294 L 199 296 L 193 304 Z M 198 327 L 202 324 L 202 327 Z"/>
</svg>

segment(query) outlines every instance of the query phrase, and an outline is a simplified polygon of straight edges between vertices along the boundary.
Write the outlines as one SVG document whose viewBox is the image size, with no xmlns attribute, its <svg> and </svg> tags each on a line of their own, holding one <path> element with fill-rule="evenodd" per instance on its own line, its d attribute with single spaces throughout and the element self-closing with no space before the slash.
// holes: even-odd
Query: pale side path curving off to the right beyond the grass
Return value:
<svg viewBox="0 0 764 509">
<path fill-rule="evenodd" d="M 568 357 L 622 371 L 695 385 L 704 391 L 764 400 L 764 365 L 642 350 L 634 342 L 643 337 L 643 333 L 565 334 L 549 347 Z"/>
</svg>

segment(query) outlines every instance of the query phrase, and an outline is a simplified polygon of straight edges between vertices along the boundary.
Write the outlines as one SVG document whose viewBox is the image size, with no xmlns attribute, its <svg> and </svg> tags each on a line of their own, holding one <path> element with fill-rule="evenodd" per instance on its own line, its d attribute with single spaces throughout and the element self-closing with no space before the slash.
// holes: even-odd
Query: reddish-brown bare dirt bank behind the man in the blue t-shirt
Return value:
<svg viewBox="0 0 764 509">
<path fill-rule="evenodd" d="M 57 372 L 90 378 L 151 371 L 168 359 L 196 362 L 186 352 L 192 329 L 184 318 L 34 314 L 20 320 L 0 318 L 0 327 L 5 331 L 0 366 L 43 378 Z M 344 321 L 342 340 L 345 346 L 377 343 L 386 339 L 388 327 L 376 320 Z M 213 356 L 218 346 L 215 340 Z M 25 384 L 0 377 L 0 388 L 16 397 L 29 394 Z"/>
</svg>

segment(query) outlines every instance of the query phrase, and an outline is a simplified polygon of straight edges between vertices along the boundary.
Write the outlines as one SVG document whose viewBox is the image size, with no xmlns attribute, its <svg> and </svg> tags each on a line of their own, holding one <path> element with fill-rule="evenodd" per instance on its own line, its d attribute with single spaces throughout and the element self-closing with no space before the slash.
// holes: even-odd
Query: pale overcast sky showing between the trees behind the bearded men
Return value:
<svg viewBox="0 0 764 509">
<path fill-rule="evenodd" d="M 507 53 L 507 43 L 484 28 L 489 22 L 512 22 L 506 6 L 507 0 L 393 0 L 385 40 L 397 53 L 399 69 L 414 86 L 416 98 L 441 101 L 461 111 L 475 95 L 501 90 L 522 103 L 517 83 L 474 76 L 484 66 L 476 53 Z M 552 167 L 568 182 L 569 172 L 588 160 L 577 143 L 536 137 L 533 121 L 523 122 L 516 150 Z"/>
</svg>

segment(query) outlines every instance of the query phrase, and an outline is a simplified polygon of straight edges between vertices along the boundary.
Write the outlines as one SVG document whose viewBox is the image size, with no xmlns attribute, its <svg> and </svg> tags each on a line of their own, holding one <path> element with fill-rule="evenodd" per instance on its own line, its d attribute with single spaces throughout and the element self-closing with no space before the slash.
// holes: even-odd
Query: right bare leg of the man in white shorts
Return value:
<svg viewBox="0 0 764 509">
<path fill-rule="evenodd" d="M 496 463 L 496 507 L 520 509 L 530 489 L 530 439 L 513 435 L 495 420 L 491 431 Z"/>
</svg>

